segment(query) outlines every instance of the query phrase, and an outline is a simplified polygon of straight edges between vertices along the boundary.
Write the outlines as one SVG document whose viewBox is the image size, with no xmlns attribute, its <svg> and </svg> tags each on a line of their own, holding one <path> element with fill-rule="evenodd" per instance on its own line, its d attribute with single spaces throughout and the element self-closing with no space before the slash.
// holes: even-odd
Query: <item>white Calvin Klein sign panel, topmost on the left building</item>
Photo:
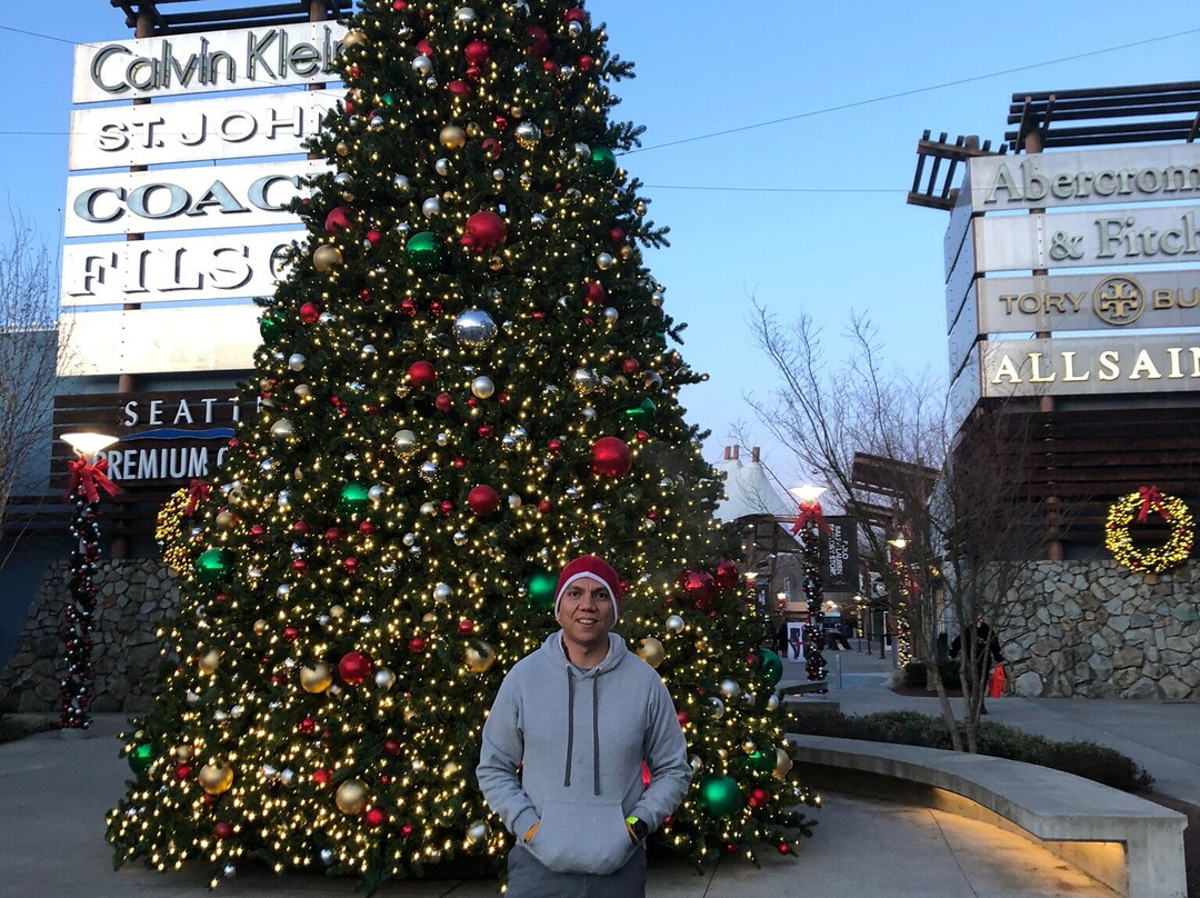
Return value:
<svg viewBox="0 0 1200 898">
<path fill-rule="evenodd" d="M 80 44 L 71 102 L 338 80 L 344 35 L 318 22 Z"/>
</svg>

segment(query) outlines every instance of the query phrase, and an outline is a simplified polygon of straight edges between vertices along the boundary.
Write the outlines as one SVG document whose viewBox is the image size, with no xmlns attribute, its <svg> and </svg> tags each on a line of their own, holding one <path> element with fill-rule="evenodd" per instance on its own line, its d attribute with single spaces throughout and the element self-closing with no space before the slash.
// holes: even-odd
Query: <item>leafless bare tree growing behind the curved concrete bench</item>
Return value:
<svg viewBox="0 0 1200 898">
<path fill-rule="evenodd" d="M 838 367 L 808 316 L 784 325 L 756 305 L 754 327 L 780 385 L 750 405 L 856 519 L 862 556 L 925 665 L 954 748 L 974 752 L 991 665 L 973 635 L 980 623 L 1003 628 L 1007 594 L 1044 535 L 1042 511 L 1020 486 L 1032 450 L 1027 417 L 1001 402 L 959 427 L 944 383 L 888 373 L 863 317 L 852 317 Z M 961 634 L 961 728 L 937 666 L 947 618 Z"/>
</svg>

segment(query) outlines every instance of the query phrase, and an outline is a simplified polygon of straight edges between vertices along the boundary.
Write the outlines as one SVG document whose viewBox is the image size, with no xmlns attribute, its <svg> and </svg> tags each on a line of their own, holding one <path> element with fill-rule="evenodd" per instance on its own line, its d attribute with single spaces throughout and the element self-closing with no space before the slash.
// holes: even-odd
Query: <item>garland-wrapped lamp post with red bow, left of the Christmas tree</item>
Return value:
<svg viewBox="0 0 1200 898">
<path fill-rule="evenodd" d="M 116 485 L 108 479 L 108 461 L 97 454 L 116 442 L 103 433 L 64 433 L 62 441 L 74 451 L 67 462 L 71 481 L 64 499 L 74 503 L 71 535 L 77 545 L 71 552 L 71 595 L 64 611 L 62 642 L 66 672 L 59 680 L 60 730 L 86 730 L 91 725 L 88 706 L 92 700 L 91 624 L 96 610 L 96 586 L 100 567 L 100 491 L 109 496 Z"/>
</svg>

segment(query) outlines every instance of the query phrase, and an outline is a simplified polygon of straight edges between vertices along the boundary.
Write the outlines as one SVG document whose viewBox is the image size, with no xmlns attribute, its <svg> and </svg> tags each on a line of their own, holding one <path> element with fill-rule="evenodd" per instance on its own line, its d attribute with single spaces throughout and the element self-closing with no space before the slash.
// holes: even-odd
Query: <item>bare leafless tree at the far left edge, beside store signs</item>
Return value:
<svg viewBox="0 0 1200 898">
<path fill-rule="evenodd" d="M 58 345 L 56 262 L 44 240 L 10 212 L 0 245 L 0 567 L 25 527 L 13 499 L 44 491 L 32 469 L 49 453 Z"/>
</svg>

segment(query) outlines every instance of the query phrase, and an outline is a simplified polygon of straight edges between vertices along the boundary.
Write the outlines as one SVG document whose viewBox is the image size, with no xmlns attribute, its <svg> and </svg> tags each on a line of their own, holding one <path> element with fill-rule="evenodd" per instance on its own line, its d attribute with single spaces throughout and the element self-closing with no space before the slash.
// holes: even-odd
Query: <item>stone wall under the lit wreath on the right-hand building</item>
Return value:
<svg viewBox="0 0 1200 898">
<path fill-rule="evenodd" d="M 1038 562 L 1001 627 L 1018 695 L 1200 701 L 1200 563 Z"/>
</svg>

